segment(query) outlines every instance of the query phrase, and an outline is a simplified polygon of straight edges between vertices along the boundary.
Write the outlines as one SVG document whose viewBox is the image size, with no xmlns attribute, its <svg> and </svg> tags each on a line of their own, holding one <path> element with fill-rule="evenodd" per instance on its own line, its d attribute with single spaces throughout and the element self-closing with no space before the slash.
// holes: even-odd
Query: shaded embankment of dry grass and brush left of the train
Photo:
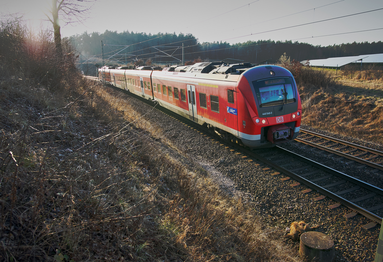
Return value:
<svg viewBox="0 0 383 262">
<path fill-rule="evenodd" d="M 0 27 L 1 261 L 298 261 L 76 51 Z M 166 149 L 166 150 L 165 150 Z M 169 154 L 169 152 L 172 152 Z"/>
</svg>

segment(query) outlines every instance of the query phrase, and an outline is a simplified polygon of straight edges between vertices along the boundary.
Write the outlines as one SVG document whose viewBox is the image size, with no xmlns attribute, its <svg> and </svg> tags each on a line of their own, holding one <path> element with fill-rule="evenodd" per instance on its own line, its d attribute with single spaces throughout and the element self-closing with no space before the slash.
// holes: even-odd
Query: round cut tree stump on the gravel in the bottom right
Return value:
<svg viewBox="0 0 383 262">
<path fill-rule="evenodd" d="M 335 248 L 331 237 L 316 231 L 301 234 L 299 254 L 313 262 L 331 262 Z"/>
</svg>

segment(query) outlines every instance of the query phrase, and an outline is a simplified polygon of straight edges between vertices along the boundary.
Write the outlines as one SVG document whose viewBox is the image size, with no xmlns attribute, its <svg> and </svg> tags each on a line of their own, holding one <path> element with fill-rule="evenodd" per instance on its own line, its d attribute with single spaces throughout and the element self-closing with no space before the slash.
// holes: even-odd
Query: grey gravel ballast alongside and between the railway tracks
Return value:
<svg viewBox="0 0 383 262">
<path fill-rule="evenodd" d="M 238 154 L 238 151 L 230 151 L 231 148 L 225 148 L 224 141 L 212 140 L 214 138 L 208 138 L 210 135 L 207 133 L 201 134 L 204 133 L 203 129 L 196 130 L 188 127 L 159 110 L 150 111 L 149 105 L 129 95 L 126 95 L 126 99 L 137 111 L 147 113 L 146 117 L 155 121 L 175 146 L 199 163 L 224 192 L 229 196 L 242 196 L 244 203 L 254 208 L 265 223 L 275 226 L 280 231 L 281 237 L 291 222 L 305 220 L 310 226 L 319 225 L 317 231 L 332 237 L 336 246 L 335 261 L 374 260 L 380 231 L 379 224 L 374 229 L 362 229 L 361 226 L 372 221 L 360 215 L 347 220 L 343 215 L 352 212 L 348 208 L 340 206 L 330 210 L 328 206 L 335 204 L 335 201 L 327 197 L 322 201 L 314 201 L 315 197 L 320 196 L 318 192 L 303 194 L 301 191 L 306 190 L 306 186 L 290 187 L 291 184 L 296 183 L 295 180 L 282 182 L 280 178 L 285 176 L 272 175 L 276 170 L 272 170 L 258 160 L 243 157 L 244 155 Z M 184 121 L 181 117 L 178 119 Z M 307 126 L 304 128 L 321 133 Z M 332 136 L 329 133 L 322 133 Z M 343 136 L 338 137 L 346 140 Z M 346 141 L 353 140 L 350 138 Z M 369 143 L 363 145 L 372 147 Z M 368 170 L 355 168 L 352 163 L 347 164 L 348 159 L 342 161 L 336 159 L 338 156 L 327 156 L 319 152 L 320 150 L 304 147 L 298 142 L 285 143 L 283 147 L 317 162 L 324 162 L 328 166 L 367 182 L 383 180 L 381 174 L 370 174 Z M 291 246 L 296 252 L 299 250 L 299 242 L 286 239 L 286 245 Z"/>
</svg>

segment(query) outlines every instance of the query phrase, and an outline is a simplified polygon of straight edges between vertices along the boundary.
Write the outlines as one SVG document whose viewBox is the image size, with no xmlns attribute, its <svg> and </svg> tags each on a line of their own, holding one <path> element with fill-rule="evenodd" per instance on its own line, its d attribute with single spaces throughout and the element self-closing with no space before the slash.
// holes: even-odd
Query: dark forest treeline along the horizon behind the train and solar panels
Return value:
<svg viewBox="0 0 383 262">
<path fill-rule="evenodd" d="M 296 61 L 383 53 L 383 42 L 381 41 L 372 43 L 367 41 L 362 43 L 343 43 L 332 46 L 313 46 L 312 44 L 300 43 L 298 41 L 273 41 L 271 39 L 236 44 L 222 41 L 200 43 L 193 34 L 146 34 L 134 33 L 133 31 L 117 33 L 117 31 L 109 30 L 106 30 L 104 33 L 93 32 L 88 34 L 84 32 L 72 36 L 72 40 L 83 55 L 101 54 L 100 42 L 102 40 L 103 44 L 107 45 L 129 45 L 122 53 L 126 53 L 130 61 L 134 57 L 144 60 L 151 58 L 153 62 L 174 61 L 175 58 L 181 60 L 182 48 L 177 49 L 177 47 L 182 46 L 182 44 L 184 45 L 185 60 L 193 60 L 197 57 L 210 60 L 236 59 L 254 64 L 265 61 L 268 61 L 268 63 L 277 62 L 283 53 L 286 53 L 291 60 L 295 59 Z M 153 46 L 163 46 L 157 48 L 168 54 L 174 52 L 173 57 L 158 57 L 158 55 L 165 54 Z M 105 58 L 110 54 L 114 54 L 112 51 L 121 48 L 121 46 L 104 46 Z"/>
</svg>

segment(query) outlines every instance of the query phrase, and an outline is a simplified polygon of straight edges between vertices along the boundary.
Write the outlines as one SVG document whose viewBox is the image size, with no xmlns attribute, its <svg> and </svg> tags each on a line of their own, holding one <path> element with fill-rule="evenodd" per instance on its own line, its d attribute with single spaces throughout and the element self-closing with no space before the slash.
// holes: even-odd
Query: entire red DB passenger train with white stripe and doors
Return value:
<svg viewBox="0 0 383 262">
<path fill-rule="evenodd" d="M 299 133 L 302 106 L 296 83 L 290 71 L 277 65 L 202 62 L 162 71 L 102 67 L 98 72 L 103 82 L 155 100 L 251 148 L 272 147 Z"/>
</svg>

